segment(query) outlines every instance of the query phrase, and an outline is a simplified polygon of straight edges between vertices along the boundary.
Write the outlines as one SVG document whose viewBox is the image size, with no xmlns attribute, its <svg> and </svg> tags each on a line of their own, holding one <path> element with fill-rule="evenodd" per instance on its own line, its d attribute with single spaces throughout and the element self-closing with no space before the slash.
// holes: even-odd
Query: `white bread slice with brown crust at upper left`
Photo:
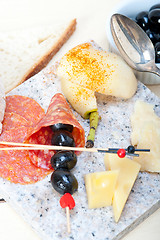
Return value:
<svg viewBox="0 0 160 240">
<path fill-rule="evenodd" d="M 0 32 L 0 79 L 5 93 L 42 70 L 76 29 L 76 19 L 61 25 Z"/>
</svg>

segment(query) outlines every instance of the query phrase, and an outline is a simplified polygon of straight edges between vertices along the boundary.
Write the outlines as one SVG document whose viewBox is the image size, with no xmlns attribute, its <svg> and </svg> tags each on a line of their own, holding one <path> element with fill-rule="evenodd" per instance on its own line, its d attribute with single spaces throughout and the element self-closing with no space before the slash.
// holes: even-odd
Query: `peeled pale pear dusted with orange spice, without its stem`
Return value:
<svg viewBox="0 0 160 240">
<path fill-rule="evenodd" d="M 57 75 L 61 80 L 63 91 L 68 83 L 71 86 L 71 82 L 74 83 L 74 86 L 77 85 L 77 88 L 86 89 L 79 95 L 74 94 L 76 99 L 72 99 L 71 103 L 82 117 L 88 112 L 88 104 L 92 105 L 89 101 L 93 102 L 92 110 L 95 109 L 95 97 L 88 100 L 86 91 L 91 96 L 94 96 L 94 92 L 99 92 L 128 99 L 134 95 L 137 89 L 137 80 L 133 71 L 120 56 L 97 50 L 90 43 L 78 45 L 66 53 L 60 61 Z M 77 92 L 76 87 L 74 90 Z M 73 91 L 73 87 L 71 91 Z M 82 104 L 76 104 L 77 97 L 79 97 L 79 102 L 83 100 L 82 104 L 86 100 L 83 111 Z"/>
</svg>

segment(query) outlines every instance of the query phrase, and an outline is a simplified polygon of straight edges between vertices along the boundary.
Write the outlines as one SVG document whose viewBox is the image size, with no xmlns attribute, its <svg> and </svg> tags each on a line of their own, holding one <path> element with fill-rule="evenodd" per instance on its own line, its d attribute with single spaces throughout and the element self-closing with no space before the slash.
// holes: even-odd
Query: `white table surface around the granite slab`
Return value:
<svg viewBox="0 0 160 240">
<path fill-rule="evenodd" d="M 95 40 L 107 50 L 106 17 L 119 2 L 120 0 L 0 0 L 0 30 L 77 18 L 76 32 L 54 59 L 62 56 L 72 45 L 89 39 Z M 160 97 L 160 86 L 150 86 L 150 89 Z M 40 240 L 7 203 L 0 204 L 0 239 Z M 142 239 L 160 239 L 160 209 L 123 238 L 123 240 Z"/>
</svg>

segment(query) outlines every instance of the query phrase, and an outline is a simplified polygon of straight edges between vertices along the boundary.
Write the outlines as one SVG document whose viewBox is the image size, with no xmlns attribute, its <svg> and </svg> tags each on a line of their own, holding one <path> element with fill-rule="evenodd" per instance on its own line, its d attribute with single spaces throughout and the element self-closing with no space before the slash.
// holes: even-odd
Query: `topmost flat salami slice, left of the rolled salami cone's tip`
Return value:
<svg viewBox="0 0 160 240">
<path fill-rule="evenodd" d="M 19 114 L 29 121 L 30 126 L 36 125 L 45 115 L 43 108 L 34 99 L 20 95 L 6 97 L 5 112 Z"/>
</svg>

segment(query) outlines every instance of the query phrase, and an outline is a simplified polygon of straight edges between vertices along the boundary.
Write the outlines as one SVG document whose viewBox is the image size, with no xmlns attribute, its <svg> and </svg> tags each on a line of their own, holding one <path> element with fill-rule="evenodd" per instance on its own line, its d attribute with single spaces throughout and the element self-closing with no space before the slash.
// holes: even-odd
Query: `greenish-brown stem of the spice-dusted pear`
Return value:
<svg viewBox="0 0 160 240">
<path fill-rule="evenodd" d="M 99 115 L 98 112 L 91 112 L 89 115 L 90 131 L 87 137 L 86 148 L 92 148 L 94 146 L 95 132 L 98 126 Z"/>
</svg>

